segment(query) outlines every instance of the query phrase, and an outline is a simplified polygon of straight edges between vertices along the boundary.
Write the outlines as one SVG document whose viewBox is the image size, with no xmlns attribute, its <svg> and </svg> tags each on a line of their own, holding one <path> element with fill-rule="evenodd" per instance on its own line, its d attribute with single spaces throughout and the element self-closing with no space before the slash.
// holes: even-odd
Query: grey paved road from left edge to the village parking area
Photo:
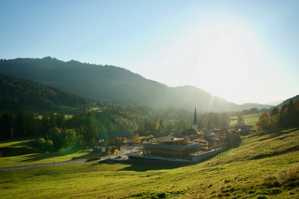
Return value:
<svg viewBox="0 0 299 199">
<path fill-rule="evenodd" d="M 132 149 L 132 150 L 131 150 Z M 139 146 L 129 146 L 129 147 L 120 147 L 119 153 L 117 156 L 121 156 L 121 159 L 128 159 L 128 157 L 125 155 L 129 152 L 136 152 L 139 151 Z M 114 157 L 114 155 L 110 155 L 111 158 Z M 108 156 L 101 157 L 101 160 L 108 159 Z M 1 167 L 1 171 L 11 171 L 11 170 L 20 170 L 20 169 L 34 169 L 34 168 L 42 168 L 42 167 L 49 167 L 49 166 L 62 166 L 62 165 L 69 165 L 69 164 L 79 164 L 88 162 L 87 159 L 81 159 L 81 160 L 71 160 L 71 161 L 64 161 L 64 162 L 53 162 L 53 163 L 42 163 L 42 164 L 32 164 L 32 165 L 23 165 L 23 166 L 9 166 L 9 167 Z"/>
</svg>

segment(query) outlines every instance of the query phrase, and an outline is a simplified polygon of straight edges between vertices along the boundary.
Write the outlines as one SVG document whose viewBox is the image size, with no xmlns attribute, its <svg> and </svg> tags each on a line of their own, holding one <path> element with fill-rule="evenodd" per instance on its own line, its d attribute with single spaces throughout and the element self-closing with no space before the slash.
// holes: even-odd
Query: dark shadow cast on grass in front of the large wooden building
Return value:
<svg viewBox="0 0 299 199">
<path fill-rule="evenodd" d="M 100 161 L 99 164 L 114 164 L 122 163 L 128 164 L 130 166 L 119 169 L 118 171 L 136 171 L 136 172 L 145 172 L 150 170 L 162 170 L 162 169 L 176 169 L 181 166 L 189 166 L 190 162 L 172 162 L 172 161 L 163 161 L 163 160 L 104 160 Z"/>
</svg>

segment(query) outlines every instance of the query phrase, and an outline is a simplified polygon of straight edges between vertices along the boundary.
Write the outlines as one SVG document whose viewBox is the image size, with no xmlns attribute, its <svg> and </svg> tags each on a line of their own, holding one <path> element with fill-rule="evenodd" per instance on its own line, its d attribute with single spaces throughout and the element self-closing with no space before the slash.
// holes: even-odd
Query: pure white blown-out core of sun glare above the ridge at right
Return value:
<svg viewBox="0 0 299 199">
<path fill-rule="evenodd" d="M 227 27 L 225 27 L 227 29 Z M 234 32 L 234 34 L 230 34 Z M 196 69 L 188 84 L 195 85 L 213 95 L 236 101 L 238 95 L 244 98 L 248 87 L 248 72 L 250 61 L 245 49 L 245 35 L 236 36 L 230 29 L 228 32 L 218 30 L 218 35 L 211 38 L 200 49 Z M 231 95 L 228 90 L 235 90 L 239 94 Z M 240 93 L 244 92 L 244 93 Z M 242 96 L 240 96 L 240 94 Z"/>
</svg>

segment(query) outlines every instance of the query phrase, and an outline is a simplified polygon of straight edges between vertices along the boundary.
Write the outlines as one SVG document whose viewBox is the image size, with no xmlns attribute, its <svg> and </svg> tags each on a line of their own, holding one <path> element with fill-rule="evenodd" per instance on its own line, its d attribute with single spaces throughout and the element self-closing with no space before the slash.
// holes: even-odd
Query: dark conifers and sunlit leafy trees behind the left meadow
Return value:
<svg viewBox="0 0 299 199">
<path fill-rule="evenodd" d="M 38 145 L 49 152 L 78 144 L 93 144 L 99 138 L 92 112 L 65 118 L 64 113 L 39 116 L 20 109 L 16 115 L 4 112 L 0 127 L 0 140 L 39 136 Z"/>
</svg>

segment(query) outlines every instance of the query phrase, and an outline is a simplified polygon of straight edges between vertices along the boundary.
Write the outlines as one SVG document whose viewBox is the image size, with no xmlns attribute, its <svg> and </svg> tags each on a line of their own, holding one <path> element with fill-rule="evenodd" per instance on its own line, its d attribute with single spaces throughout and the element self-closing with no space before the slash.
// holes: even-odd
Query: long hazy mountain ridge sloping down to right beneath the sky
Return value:
<svg viewBox="0 0 299 199">
<path fill-rule="evenodd" d="M 238 111 L 257 107 L 237 105 L 193 86 L 167 87 L 124 68 L 60 61 L 56 58 L 16 58 L 0 60 L 0 72 L 27 78 L 68 92 L 97 97 L 106 102 L 151 106 L 181 107 L 201 111 Z M 268 108 L 269 105 L 258 105 Z"/>
</svg>

